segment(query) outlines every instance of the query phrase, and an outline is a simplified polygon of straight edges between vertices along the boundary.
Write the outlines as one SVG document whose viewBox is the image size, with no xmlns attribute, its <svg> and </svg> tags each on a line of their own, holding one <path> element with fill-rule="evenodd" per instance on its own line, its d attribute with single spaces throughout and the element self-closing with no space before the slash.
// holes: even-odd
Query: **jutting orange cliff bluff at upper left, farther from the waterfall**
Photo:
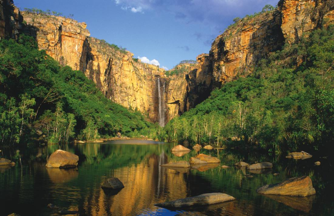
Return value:
<svg viewBox="0 0 334 216">
<path fill-rule="evenodd" d="M 74 70 L 80 68 L 83 45 L 90 36 L 86 23 L 25 11 L 21 14 L 26 22 L 23 32 L 36 38 L 39 49 L 46 50 L 48 55 L 62 65 L 68 65 Z"/>
</svg>

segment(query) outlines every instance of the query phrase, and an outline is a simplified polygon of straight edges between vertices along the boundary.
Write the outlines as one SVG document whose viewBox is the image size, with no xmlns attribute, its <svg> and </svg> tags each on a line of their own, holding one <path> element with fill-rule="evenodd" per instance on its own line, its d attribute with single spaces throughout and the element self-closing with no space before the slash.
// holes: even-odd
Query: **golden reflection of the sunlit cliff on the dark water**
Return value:
<svg viewBox="0 0 334 216">
<path fill-rule="evenodd" d="M 125 188 L 114 196 L 106 195 L 103 190 L 99 190 L 93 196 L 85 197 L 84 208 L 89 211 L 87 214 L 136 215 L 141 213 L 137 212 L 139 209 L 151 208 L 153 204 L 164 202 L 166 199 L 186 196 L 187 184 L 184 175 L 175 174 L 175 171 L 159 166 L 167 161 L 164 153 L 153 154 L 139 164 L 113 170 L 110 175 L 119 178 Z"/>
</svg>

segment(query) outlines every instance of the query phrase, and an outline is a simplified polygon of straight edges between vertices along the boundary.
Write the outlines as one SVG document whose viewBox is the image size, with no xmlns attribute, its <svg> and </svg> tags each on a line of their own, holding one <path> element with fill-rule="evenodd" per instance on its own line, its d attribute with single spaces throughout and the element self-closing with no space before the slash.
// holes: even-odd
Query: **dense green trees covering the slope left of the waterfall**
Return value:
<svg viewBox="0 0 334 216">
<path fill-rule="evenodd" d="M 0 41 L 0 142 L 68 142 L 74 138 L 146 135 L 157 126 L 108 100 L 80 71 L 39 51 L 20 35 Z"/>
</svg>

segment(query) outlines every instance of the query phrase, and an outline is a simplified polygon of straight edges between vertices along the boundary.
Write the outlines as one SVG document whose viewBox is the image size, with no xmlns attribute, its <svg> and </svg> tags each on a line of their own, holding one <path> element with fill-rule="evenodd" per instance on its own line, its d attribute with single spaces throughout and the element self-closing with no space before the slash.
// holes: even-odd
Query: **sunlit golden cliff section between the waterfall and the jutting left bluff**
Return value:
<svg viewBox="0 0 334 216">
<path fill-rule="evenodd" d="M 80 68 L 105 95 L 125 107 L 132 107 L 158 122 L 158 77 L 163 91 L 164 70 L 141 63 L 133 54 L 113 48 L 96 38 L 89 38 Z M 165 93 L 161 93 L 165 97 Z"/>
</svg>

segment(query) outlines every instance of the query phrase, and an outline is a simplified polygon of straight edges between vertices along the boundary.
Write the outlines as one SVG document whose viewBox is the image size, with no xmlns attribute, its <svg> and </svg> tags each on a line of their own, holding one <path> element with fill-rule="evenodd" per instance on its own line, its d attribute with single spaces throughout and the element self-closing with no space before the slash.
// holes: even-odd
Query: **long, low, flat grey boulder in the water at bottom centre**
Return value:
<svg viewBox="0 0 334 216">
<path fill-rule="evenodd" d="M 170 202 L 158 203 L 154 205 L 163 208 L 181 208 L 194 205 L 208 205 L 208 204 L 222 203 L 231 200 L 235 200 L 235 198 L 228 194 L 210 193 L 210 194 L 201 194 L 195 197 L 178 199 Z"/>
</svg>

